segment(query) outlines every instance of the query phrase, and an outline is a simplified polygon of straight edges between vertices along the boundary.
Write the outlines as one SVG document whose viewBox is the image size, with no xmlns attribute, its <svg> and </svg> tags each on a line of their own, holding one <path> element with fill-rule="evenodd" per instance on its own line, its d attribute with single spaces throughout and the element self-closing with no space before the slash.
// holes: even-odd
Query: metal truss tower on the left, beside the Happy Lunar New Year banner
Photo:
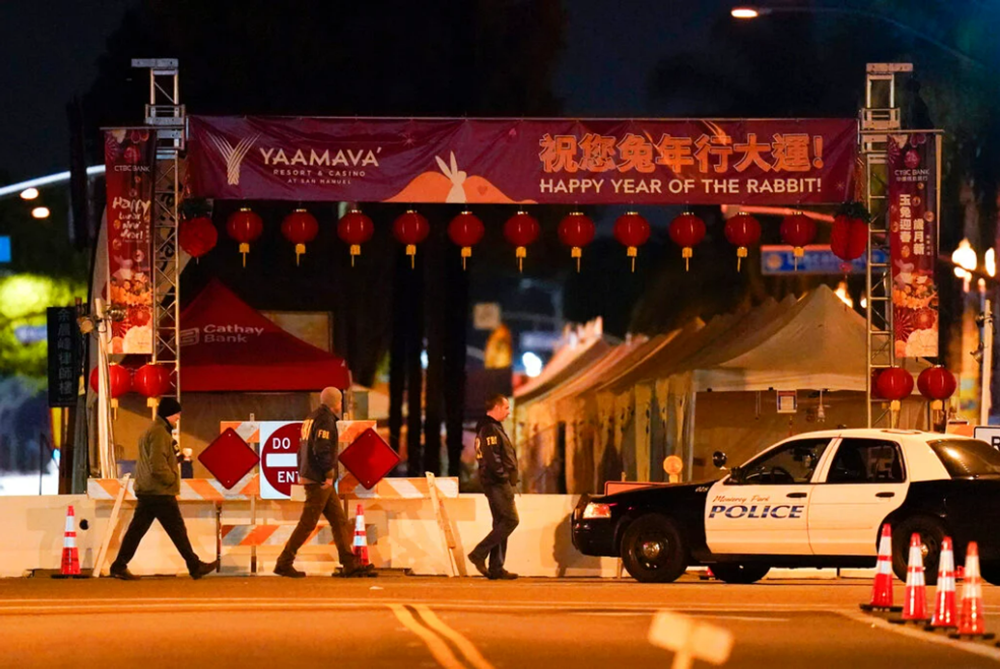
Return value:
<svg viewBox="0 0 1000 669">
<path fill-rule="evenodd" d="M 176 58 L 136 58 L 132 67 L 149 70 L 146 127 L 156 136 L 153 186 L 153 362 L 173 368 L 175 394 L 181 391 L 180 266 L 177 245 L 182 154 L 187 117 L 180 101 Z"/>
</svg>

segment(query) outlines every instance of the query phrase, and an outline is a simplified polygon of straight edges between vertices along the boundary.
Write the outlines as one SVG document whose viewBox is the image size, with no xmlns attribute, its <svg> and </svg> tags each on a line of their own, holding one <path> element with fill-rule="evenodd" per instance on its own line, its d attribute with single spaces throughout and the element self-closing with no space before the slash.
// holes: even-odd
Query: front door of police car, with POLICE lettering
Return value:
<svg viewBox="0 0 1000 669">
<path fill-rule="evenodd" d="M 808 507 L 830 438 L 793 439 L 708 491 L 705 538 L 716 554 L 810 555 Z"/>
</svg>

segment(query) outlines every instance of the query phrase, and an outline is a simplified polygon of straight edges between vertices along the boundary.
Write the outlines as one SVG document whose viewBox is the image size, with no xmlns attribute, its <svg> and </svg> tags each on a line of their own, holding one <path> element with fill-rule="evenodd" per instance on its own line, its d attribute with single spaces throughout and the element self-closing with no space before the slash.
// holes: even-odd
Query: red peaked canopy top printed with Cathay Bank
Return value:
<svg viewBox="0 0 1000 669">
<path fill-rule="evenodd" d="M 288 392 L 346 389 L 343 358 L 261 316 L 218 279 L 181 313 L 181 390 Z"/>
</svg>

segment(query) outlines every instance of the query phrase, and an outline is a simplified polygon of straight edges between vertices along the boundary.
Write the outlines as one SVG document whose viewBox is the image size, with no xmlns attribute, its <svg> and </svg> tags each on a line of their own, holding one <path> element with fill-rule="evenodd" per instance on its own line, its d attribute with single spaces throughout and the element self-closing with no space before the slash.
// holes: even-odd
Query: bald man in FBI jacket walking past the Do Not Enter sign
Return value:
<svg viewBox="0 0 1000 669">
<path fill-rule="evenodd" d="M 340 418 L 343 396 L 336 388 L 324 388 L 319 401 L 319 407 L 302 422 L 302 440 L 299 443 L 299 483 L 306 490 L 306 503 L 302 507 L 299 524 L 278 556 L 274 573 L 289 578 L 306 575 L 293 566 L 295 554 L 316 529 L 316 523 L 323 515 L 330 521 L 337 555 L 343 565 L 340 575 L 345 578 L 377 576 L 374 566 L 362 565 L 351 550 L 352 530 L 333 488 L 337 479 L 337 419 Z"/>
</svg>

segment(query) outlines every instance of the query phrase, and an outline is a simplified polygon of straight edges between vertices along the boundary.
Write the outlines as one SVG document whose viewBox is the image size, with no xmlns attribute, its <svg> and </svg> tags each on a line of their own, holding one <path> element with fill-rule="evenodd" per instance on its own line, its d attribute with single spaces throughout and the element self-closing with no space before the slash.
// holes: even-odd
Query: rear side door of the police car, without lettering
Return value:
<svg viewBox="0 0 1000 669">
<path fill-rule="evenodd" d="M 809 503 L 809 543 L 817 555 L 875 555 L 879 526 L 909 484 L 899 444 L 841 439 Z"/>
</svg>

